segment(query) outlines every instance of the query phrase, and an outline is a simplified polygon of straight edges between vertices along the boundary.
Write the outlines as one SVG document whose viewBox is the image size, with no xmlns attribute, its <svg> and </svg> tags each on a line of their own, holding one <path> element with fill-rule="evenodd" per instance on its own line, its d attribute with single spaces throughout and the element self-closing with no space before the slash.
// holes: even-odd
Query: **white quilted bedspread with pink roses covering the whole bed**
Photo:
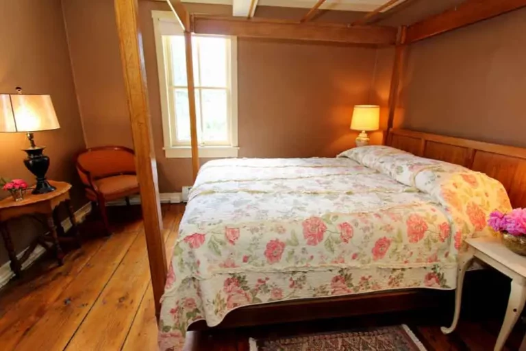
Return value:
<svg viewBox="0 0 526 351">
<path fill-rule="evenodd" d="M 414 287 L 454 289 L 466 237 L 494 234 L 503 186 L 390 147 L 337 158 L 206 163 L 162 300 L 160 349 L 247 304 Z"/>
</svg>

